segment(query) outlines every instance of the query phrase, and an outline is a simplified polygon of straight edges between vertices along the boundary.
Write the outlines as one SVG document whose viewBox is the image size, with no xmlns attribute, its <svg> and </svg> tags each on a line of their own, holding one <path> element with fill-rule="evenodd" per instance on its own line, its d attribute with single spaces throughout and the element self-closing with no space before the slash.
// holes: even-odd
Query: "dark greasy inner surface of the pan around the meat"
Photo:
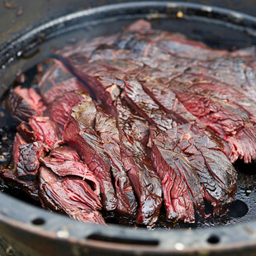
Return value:
<svg viewBox="0 0 256 256">
<path fill-rule="evenodd" d="M 203 41 L 206 45 L 218 49 L 235 50 L 256 45 L 256 38 L 250 33 L 233 25 L 226 26 L 222 21 L 213 22 L 211 16 L 210 20 L 207 17 L 202 19 L 201 17 L 186 17 L 186 15 L 180 19 L 176 18 L 176 12 L 173 13 L 173 16 L 171 14 L 162 15 L 155 10 L 152 12 L 149 10 L 146 14 L 139 12 L 135 15 L 126 13 L 122 16 L 116 15 L 116 17 L 98 17 L 97 21 L 83 21 L 83 19 L 81 21 L 81 17 L 77 20 L 76 17 L 73 17 L 73 20 L 70 18 L 70 22 L 66 22 L 64 26 L 61 26 L 61 20 L 59 20 L 59 26 L 56 26 L 55 29 L 44 30 L 42 27 L 41 30 L 35 32 L 38 34 L 36 40 L 28 40 L 27 45 L 26 40 L 23 40 L 20 46 L 15 45 L 16 52 L 7 52 L 2 57 L 2 63 L 0 61 L 0 67 L 2 67 L 0 70 L 0 165 L 7 167 L 12 163 L 12 142 L 17 126 L 17 123 L 12 121 L 6 111 L 4 98 L 7 88 L 17 84 L 37 88 L 36 73 L 38 70 L 36 65 L 52 56 L 55 50 L 64 45 L 74 44 L 84 38 L 90 40 L 97 36 L 116 33 L 121 31 L 122 27 L 141 17 L 151 21 L 154 29 L 181 32 L 194 40 Z M 206 219 L 197 216 L 195 224 L 184 224 L 168 222 L 164 216 L 163 207 L 154 230 L 207 228 L 256 220 L 256 174 L 254 174 L 256 164 L 239 162 L 235 164 L 235 168 L 238 171 L 236 201 L 229 206 L 228 211 L 220 216 L 211 215 Z M 39 202 L 33 201 L 19 187 L 13 187 L 1 179 L 0 192 L 40 207 Z M 211 207 L 206 206 L 206 213 L 211 212 Z M 124 216 L 104 212 L 103 215 L 107 223 L 137 228 L 134 220 L 129 220 Z"/>
</svg>

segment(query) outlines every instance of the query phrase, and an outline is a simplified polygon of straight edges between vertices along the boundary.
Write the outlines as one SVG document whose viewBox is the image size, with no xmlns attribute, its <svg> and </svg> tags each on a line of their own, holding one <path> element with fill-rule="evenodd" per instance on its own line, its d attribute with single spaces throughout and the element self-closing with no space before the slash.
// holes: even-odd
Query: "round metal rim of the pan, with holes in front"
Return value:
<svg viewBox="0 0 256 256">
<path fill-rule="evenodd" d="M 138 13 L 140 8 L 140 13 Z M 202 19 L 224 22 L 229 26 L 255 36 L 256 18 L 239 12 L 230 12 L 220 7 L 202 6 L 185 2 L 129 2 L 83 10 L 56 18 L 19 36 L 9 45 L 0 45 L 0 64 L 12 64 L 21 50 L 30 50 L 44 40 L 57 36 L 54 31 L 64 32 L 83 20 L 92 24 L 117 16 L 150 16 L 158 10 L 158 17 L 197 15 Z M 105 21 L 104 20 L 104 21 Z M 66 32 L 66 31 L 65 31 Z M 8 55 L 7 55 L 8 53 Z M 2 71 L 4 72 L 4 70 Z M 1 93 L 7 89 L 2 86 Z M 40 210 L 0 193 L 0 237 L 12 244 L 14 255 L 114 255 L 114 254 L 201 254 L 254 255 L 256 249 L 256 222 L 201 230 L 146 231 L 131 230 L 115 225 L 100 226 L 82 224 L 66 216 Z M 17 253 L 17 254 L 16 254 Z"/>
</svg>

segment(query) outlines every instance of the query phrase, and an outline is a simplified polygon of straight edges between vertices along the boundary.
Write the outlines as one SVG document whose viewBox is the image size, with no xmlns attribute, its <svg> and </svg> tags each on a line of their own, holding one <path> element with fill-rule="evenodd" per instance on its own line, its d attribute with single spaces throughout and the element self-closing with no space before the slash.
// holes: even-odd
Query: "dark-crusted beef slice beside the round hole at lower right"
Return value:
<svg viewBox="0 0 256 256">
<path fill-rule="evenodd" d="M 166 131 L 151 127 L 148 145 L 153 150 L 149 153 L 154 159 L 156 146 L 165 159 L 169 155 L 167 150 L 173 150 L 174 154 L 187 159 L 184 163 L 197 171 L 203 197 L 211 202 L 214 212 L 219 214 L 222 208 L 234 200 L 232 196 L 236 192 L 237 173 L 218 146 L 206 135 L 194 134 L 191 126 L 186 124 Z"/>
</svg>

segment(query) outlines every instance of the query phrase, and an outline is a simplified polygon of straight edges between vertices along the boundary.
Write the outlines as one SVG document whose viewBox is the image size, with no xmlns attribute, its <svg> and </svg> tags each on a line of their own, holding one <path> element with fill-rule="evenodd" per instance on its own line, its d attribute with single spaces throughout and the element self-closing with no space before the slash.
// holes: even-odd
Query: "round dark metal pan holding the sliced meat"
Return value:
<svg viewBox="0 0 256 256">
<path fill-rule="evenodd" d="M 26 26 L 2 41 L 0 96 L 18 69 L 31 68 L 53 50 L 69 43 L 67 38 L 78 39 L 80 33 L 87 38 L 111 34 L 138 18 L 152 21 L 156 28 L 179 31 L 220 49 L 256 45 L 256 17 L 220 7 L 161 1 L 85 8 L 60 17 L 47 17 L 44 22 Z M 256 178 L 249 172 L 244 174 L 243 168 L 239 167 L 237 202 L 230 208 L 229 218 L 212 220 L 208 227 L 202 223 L 203 228 L 148 231 L 82 224 L 0 192 L 0 254 L 255 255 Z"/>
</svg>

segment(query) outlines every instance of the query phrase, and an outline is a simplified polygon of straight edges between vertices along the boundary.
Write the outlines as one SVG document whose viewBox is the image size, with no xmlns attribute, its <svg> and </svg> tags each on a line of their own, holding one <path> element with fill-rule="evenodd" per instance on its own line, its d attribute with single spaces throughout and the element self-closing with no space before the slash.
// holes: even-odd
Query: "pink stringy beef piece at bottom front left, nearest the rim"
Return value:
<svg viewBox="0 0 256 256">
<path fill-rule="evenodd" d="M 40 168 L 40 202 L 52 211 L 68 214 L 76 220 L 105 224 L 99 211 L 100 201 L 92 188 L 80 178 L 59 178 L 49 168 Z"/>
</svg>

